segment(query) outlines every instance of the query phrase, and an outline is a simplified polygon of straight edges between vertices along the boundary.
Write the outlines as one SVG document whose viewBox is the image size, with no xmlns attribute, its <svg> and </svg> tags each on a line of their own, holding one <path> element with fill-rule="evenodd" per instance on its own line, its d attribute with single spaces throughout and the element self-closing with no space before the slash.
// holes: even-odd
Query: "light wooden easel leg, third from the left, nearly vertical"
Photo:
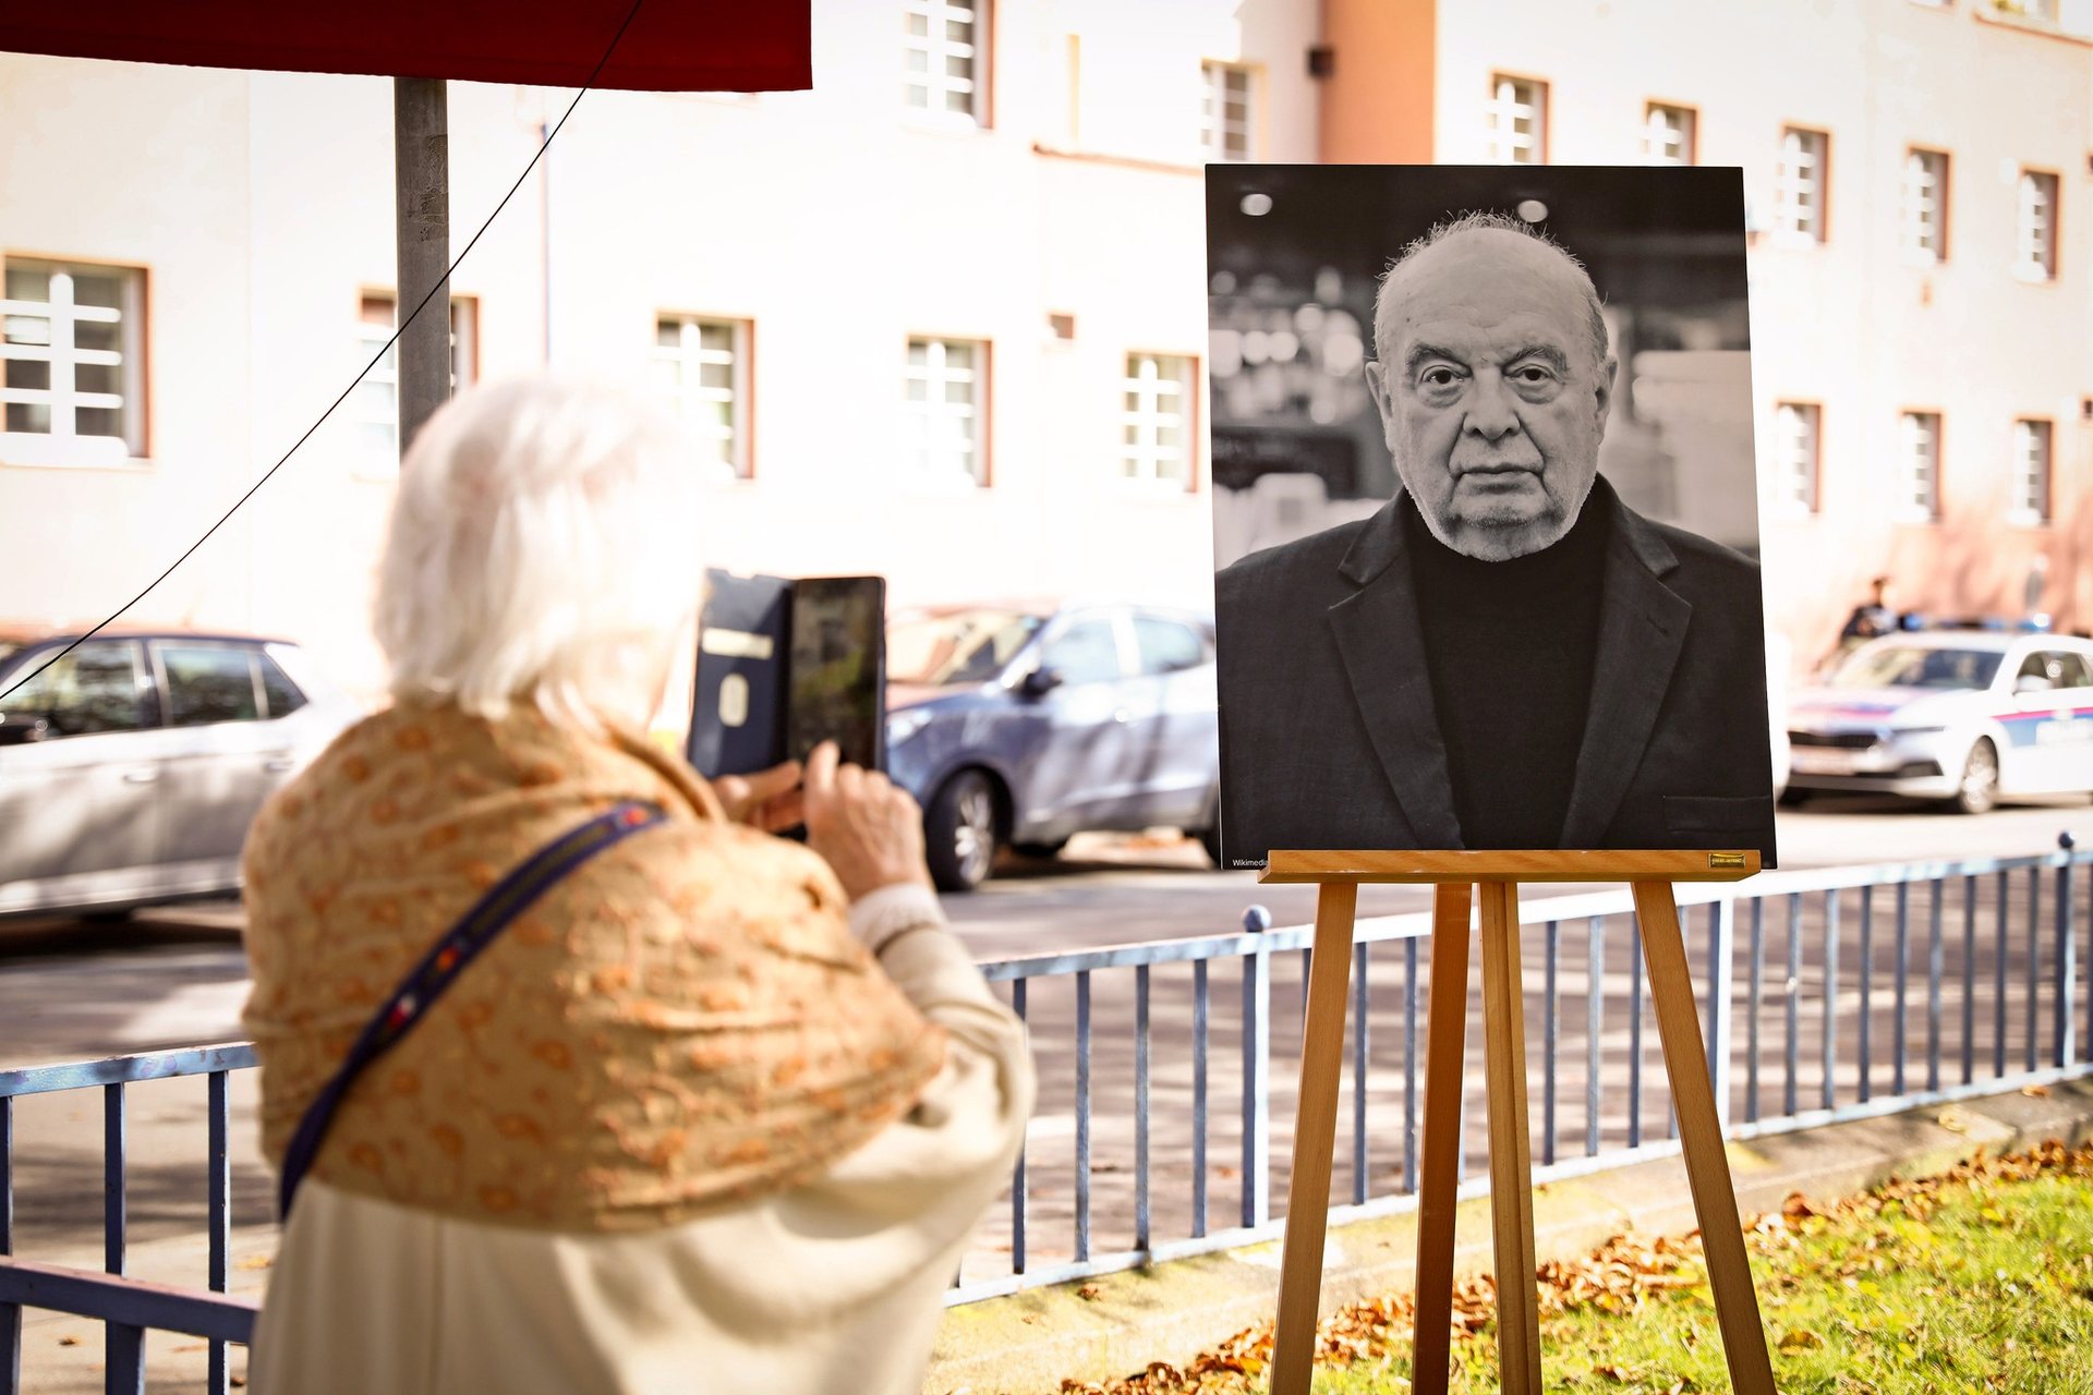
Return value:
<svg viewBox="0 0 2093 1395">
<path fill-rule="evenodd" d="M 1505 1395 L 1540 1395 L 1534 1163 L 1526 1142 L 1526 998 L 1520 991 L 1520 889 L 1513 883 L 1482 887 L 1482 1035 L 1490 1081 L 1499 1380 Z"/>
</svg>

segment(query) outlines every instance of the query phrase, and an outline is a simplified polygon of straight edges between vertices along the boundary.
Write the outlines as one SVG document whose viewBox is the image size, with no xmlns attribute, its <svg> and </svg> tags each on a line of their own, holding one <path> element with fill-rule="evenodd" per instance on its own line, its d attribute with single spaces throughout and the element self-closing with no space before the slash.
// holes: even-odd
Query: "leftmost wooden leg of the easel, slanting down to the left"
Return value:
<svg viewBox="0 0 2093 1395">
<path fill-rule="evenodd" d="M 1287 1186 L 1287 1240 L 1279 1265 L 1279 1328 L 1273 1334 L 1273 1395 L 1308 1395 L 1314 1376 L 1314 1318 L 1323 1293 L 1323 1234 L 1329 1228 L 1329 1163 L 1337 1136 L 1344 993 L 1352 977 L 1356 908 L 1354 883 L 1323 883 L 1314 906 L 1308 1023 L 1302 1029 L 1293 1177 Z"/>
</svg>

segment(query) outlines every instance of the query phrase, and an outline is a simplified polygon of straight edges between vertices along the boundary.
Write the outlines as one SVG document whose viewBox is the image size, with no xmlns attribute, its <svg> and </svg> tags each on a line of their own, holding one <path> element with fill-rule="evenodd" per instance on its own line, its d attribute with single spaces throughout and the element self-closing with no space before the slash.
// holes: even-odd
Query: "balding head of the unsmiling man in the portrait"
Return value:
<svg viewBox="0 0 2093 1395">
<path fill-rule="evenodd" d="M 1599 471 L 1614 360 L 1578 270 L 1520 232 L 1471 228 L 1396 272 L 1367 385 L 1432 533 L 1503 563 L 1553 546 Z"/>
</svg>

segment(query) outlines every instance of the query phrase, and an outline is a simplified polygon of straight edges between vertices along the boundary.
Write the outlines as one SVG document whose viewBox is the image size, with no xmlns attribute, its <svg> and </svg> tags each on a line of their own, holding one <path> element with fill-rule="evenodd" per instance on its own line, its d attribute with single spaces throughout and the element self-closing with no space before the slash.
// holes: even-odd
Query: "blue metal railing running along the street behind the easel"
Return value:
<svg viewBox="0 0 2093 1395">
<path fill-rule="evenodd" d="M 2085 1050 L 2093 1046 L 2093 991 L 2080 983 L 2078 973 L 2078 935 L 2083 929 L 2093 931 L 2093 904 L 2085 908 L 2083 918 L 2078 914 L 2080 901 L 2093 895 L 2093 876 L 2083 872 L 2089 864 L 2093 851 L 2062 851 L 2045 857 L 1769 872 L 1737 885 L 1679 887 L 1681 924 L 1689 931 L 1689 943 L 1706 939 L 1702 1027 L 1723 1119 L 1725 1123 L 1741 1119 L 1731 1134 L 1750 1138 L 1790 1131 L 2093 1071 Z M 2047 899 L 2045 883 L 2049 883 Z M 1919 906 L 1913 906 L 1913 887 L 1923 889 Z M 1877 897 L 1880 889 L 1890 895 Z M 1882 899 L 1890 906 L 1877 906 Z M 1875 935 L 1884 910 L 1892 933 L 1888 956 L 1880 954 Z M 1961 916 L 1959 954 L 1953 960 L 1946 935 L 1951 912 Z M 1538 1060 L 1530 1067 L 1540 1079 L 1536 1180 L 1676 1152 L 1676 1142 L 1647 1140 L 1643 1129 L 1649 1094 L 1643 1081 L 1647 993 L 1641 933 L 1628 895 L 1603 891 L 1530 901 L 1522 906 L 1522 920 L 1543 927 L 1536 943 L 1543 1031 L 1534 1042 Z M 1610 933 L 1610 924 L 1618 920 L 1626 920 L 1624 937 Z M 1856 939 L 1850 962 L 1844 943 L 1848 920 Z M 1923 935 L 1919 975 L 1913 975 L 1915 929 Z M 1576 952 L 1578 933 L 1584 939 L 1582 954 Z M 1358 924 L 1350 1004 L 1352 1108 L 1346 1121 L 1350 1148 L 1340 1148 L 1337 1154 L 1350 1171 L 1350 1203 L 1331 1209 L 1331 1217 L 1340 1221 L 1415 1205 L 1421 1069 L 1417 1023 L 1425 968 L 1419 962 L 1423 958 L 1419 941 L 1427 935 L 1430 916 L 1421 914 Z M 1566 939 L 1572 943 L 1566 945 Z M 1771 943 L 1775 939 L 1777 945 Z M 1285 1096 L 1293 1088 L 1300 1039 L 1300 1012 L 1289 1010 L 1283 1021 L 1275 1016 L 1275 968 L 1285 968 L 1283 987 L 1291 991 L 1298 983 L 1304 1000 L 1310 945 L 1312 929 L 1293 927 L 984 964 L 990 981 L 1009 983 L 1011 1006 L 1034 1033 L 1042 1081 L 1036 1117 L 1040 1136 L 1017 1161 L 1007 1221 L 998 1219 L 1005 1213 L 996 1211 L 984 1224 L 975 1253 L 954 1276 L 946 1301 L 969 1303 L 1017 1288 L 1275 1238 L 1283 1217 L 1270 1215 L 1273 1104 L 1275 1092 Z M 1400 945 L 1402 973 L 1396 983 L 1386 975 L 1375 977 L 1375 962 L 1383 958 L 1377 950 L 1383 945 Z M 1877 964 L 1882 958 L 1888 962 Z M 1241 1006 L 1233 1023 L 1226 1021 L 1231 1014 L 1214 1012 L 1214 966 L 1226 960 L 1239 964 L 1241 983 Z M 1582 993 L 1576 993 L 1576 985 L 1566 989 L 1566 981 L 1578 973 L 1584 979 Z M 1877 1060 L 1875 1019 L 1884 1012 L 1875 991 L 1880 973 L 1890 975 L 1888 1062 Z M 1189 989 L 1183 998 L 1178 985 Z M 1919 987 L 1926 993 L 1926 1075 L 1923 1088 L 1913 1090 L 1909 1048 L 1917 1037 L 1909 1027 L 1911 1000 Z M 1582 1012 L 1574 1008 L 1578 996 Z M 1046 1031 L 1049 1021 L 1059 1027 L 1053 1008 L 1061 1006 L 1061 998 L 1067 998 L 1070 1029 Z M 2085 1037 L 2078 1035 L 2080 1002 Z M 1291 998 L 1287 1006 L 1296 1006 Z M 1130 1012 L 1130 1033 L 1111 1029 L 1099 1033 L 1099 1014 L 1116 1014 L 1122 1008 Z M 1988 1008 L 1988 1014 L 1982 1008 Z M 1528 1012 L 1532 1010 L 1534 1004 L 1528 1004 Z M 1400 1031 L 1377 1029 L 1377 1016 L 1386 1023 L 1390 1014 L 1400 1019 Z M 1741 1031 L 1737 1016 L 1743 1019 Z M 1105 1021 L 1124 1019 L 1105 1016 Z M 1993 1037 L 1988 1077 L 1978 1073 L 1984 1025 Z M 2016 1033 L 2009 1027 L 2020 1029 L 2024 1042 L 2013 1042 Z M 1216 1079 L 1212 1048 L 1216 1035 L 1229 1029 L 1237 1033 L 1239 1044 L 1239 1073 L 1233 1081 L 1237 1108 L 1216 1115 L 1216 1094 L 1222 1094 L 1229 1081 Z M 1815 1050 L 1804 1052 L 1810 1029 L 1817 1033 Z M 1467 1035 L 1473 1042 L 1480 1033 Z M 1769 1039 L 1773 1035 L 1779 1037 L 1777 1046 Z M 1124 1138 L 1116 1131 L 1122 1119 L 1111 1111 L 1099 1113 L 1099 1100 L 1107 1098 L 1109 1088 L 1109 1071 L 1101 1071 L 1099 1062 L 1099 1039 L 1113 1050 L 1130 1044 L 1132 1119 L 1126 1121 L 1130 1131 Z M 2013 1062 L 2020 1069 L 2009 1073 L 2013 1046 L 2022 1048 Z M 1957 1083 L 1944 1083 L 1946 1060 L 1959 1060 Z M 23 1307 L 103 1320 L 111 1391 L 142 1391 L 142 1334 L 149 1328 L 203 1336 L 209 1345 L 207 1389 L 213 1395 L 228 1389 L 226 1343 L 247 1339 L 255 1309 L 251 1301 L 226 1295 L 230 1247 L 226 1075 L 251 1065 L 251 1048 L 216 1046 L 0 1071 L 0 1372 L 8 1376 L 8 1391 L 21 1387 Z M 1884 1065 L 1888 1081 L 1880 1079 Z M 201 1290 L 165 1288 L 123 1274 L 123 1088 L 178 1075 L 205 1075 L 209 1090 L 205 1184 L 209 1272 Z M 105 1272 L 100 1274 L 13 1257 L 13 1102 L 25 1094 L 90 1085 L 103 1088 L 105 1106 Z M 1375 1146 L 1375 1123 L 1386 1117 L 1375 1111 L 1398 1106 L 1392 1098 L 1396 1085 L 1400 1085 L 1396 1125 L 1400 1154 L 1392 1140 L 1381 1138 L 1379 1148 Z M 1566 1157 L 1563 1092 L 1576 1088 L 1584 1098 L 1582 1148 L 1576 1157 Z M 1157 1129 L 1157 1090 L 1172 1100 L 1170 1138 Z M 1769 1102 L 1777 1102 L 1779 1108 L 1769 1113 Z M 1668 1094 L 1647 1104 L 1660 1106 L 1670 1123 Z M 1044 1146 L 1044 1136 L 1051 1131 L 1044 1125 L 1057 1121 L 1063 1111 L 1074 1146 L 1057 1159 Z M 1281 1108 L 1281 1119 L 1289 1117 L 1291 1111 Z M 1216 1129 L 1222 1131 L 1220 1140 Z M 1170 1154 L 1160 1163 L 1160 1154 L 1180 1131 L 1189 1131 L 1189 1138 L 1180 1140 L 1187 1161 L 1176 1163 L 1176 1154 Z M 1235 1138 L 1229 1140 L 1226 1131 Z M 1239 1148 L 1239 1167 L 1233 1169 L 1216 1165 L 1218 1159 L 1231 1157 L 1229 1142 Z M 1381 1167 L 1379 1173 L 1375 1165 Z M 1172 1184 L 1160 1188 L 1160 1171 L 1170 1169 L 1189 1175 L 1172 1175 Z M 1214 1175 L 1226 1180 L 1229 1173 L 1237 1177 L 1241 1203 L 1237 1224 L 1212 1230 L 1212 1182 Z M 1109 1194 L 1101 1192 L 1101 1184 L 1109 1186 Z M 1473 1177 L 1463 1188 L 1473 1192 L 1484 1184 L 1486 1177 Z M 1063 1196 L 1072 1200 L 1067 1242 L 1042 1247 L 1038 1207 L 1059 1205 Z M 1107 1224 L 1124 1226 L 1124 1234 L 1132 1240 L 1128 1249 L 1099 1244 L 1101 1209 L 1109 1211 Z M 1005 1224 L 1007 1265 L 994 1259 Z"/>
</svg>

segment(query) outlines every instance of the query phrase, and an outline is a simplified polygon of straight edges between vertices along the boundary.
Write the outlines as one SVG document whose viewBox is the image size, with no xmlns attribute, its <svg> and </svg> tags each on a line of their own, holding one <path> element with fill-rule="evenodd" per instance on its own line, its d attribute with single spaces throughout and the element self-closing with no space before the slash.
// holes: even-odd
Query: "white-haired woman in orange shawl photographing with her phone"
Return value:
<svg viewBox="0 0 2093 1395">
<path fill-rule="evenodd" d="M 1023 1029 L 908 795 L 833 745 L 707 784 L 638 734 L 695 473 L 557 379 L 465 393 L 402 466 L 393 703 L 247 843 L 262 1395 L 921 1387 L 1021 1148 Z"/>
</svg>

